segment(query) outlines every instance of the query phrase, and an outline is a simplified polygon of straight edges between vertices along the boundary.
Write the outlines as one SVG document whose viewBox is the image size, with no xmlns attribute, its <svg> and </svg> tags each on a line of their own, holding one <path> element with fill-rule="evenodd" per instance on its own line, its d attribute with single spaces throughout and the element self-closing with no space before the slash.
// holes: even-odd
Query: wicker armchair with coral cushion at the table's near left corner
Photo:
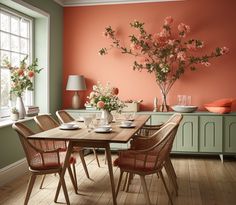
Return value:
<svg viewBox="0 0 236 205">
<path fill-rule="evenodd" d="M 24 205 L 28 204 L 30 194 L 32 192 L 35 179 L 38 175 L 46 174 L 58 174 L 60 176 L 59 183 L 56 191 L 54 201 L 57 201 L 59 195 L 60 187 L 62 186 L 66 201 L 68 201 L 68 195 L 66 194 L 65 180 L 61 176 L 62 166 L 65 158 L 64 152 L 60 151 L 60 148 L 57 149 L 42 149 L 46 148 L 48 141 L 47 140 L 33 140 L 27 139 L 28 136 L 33 135 L 34 133 L 26 127 L 24 124 L 18 122 L 12 125 L 12 128 L 18 133 L 20 142 L 23 146 L 26 159 L 29 165 L 30 171 L 30 180 L 27 187 L 26 197 Z M 76 163 L 75 158 L 70 158 L 70 163 L 74 166 Z M 74 186 L 75 192 L 77 193 L 77 185 L 74 181 L 71 167 L 68 167 L 69 175 Z"/>
</svg>

